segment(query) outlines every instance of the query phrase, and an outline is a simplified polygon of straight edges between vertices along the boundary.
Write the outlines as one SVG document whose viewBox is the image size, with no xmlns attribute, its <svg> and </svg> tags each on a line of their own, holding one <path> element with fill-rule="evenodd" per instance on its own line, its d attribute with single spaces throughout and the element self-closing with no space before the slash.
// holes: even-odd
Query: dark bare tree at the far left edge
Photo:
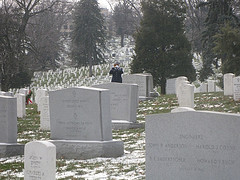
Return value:
<svg viewBox="0 0 240 180">
<path fill-rule="evenodd" d="M 27 55 L 33 46 L 26 34 L 30 18 L 50 10 L 60 0 L 2 0 L 0 7 L 0 78 L 1 89 L 21 87 L 30 83 Z"/>
</svg>

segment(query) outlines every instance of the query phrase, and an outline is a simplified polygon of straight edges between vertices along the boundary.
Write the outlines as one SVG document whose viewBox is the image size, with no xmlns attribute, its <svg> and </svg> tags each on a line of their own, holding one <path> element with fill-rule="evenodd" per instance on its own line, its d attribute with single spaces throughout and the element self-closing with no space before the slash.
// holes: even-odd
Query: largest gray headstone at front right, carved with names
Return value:
<svg viewBox="0 0 240 180">
<path fill-rule="evenodd" d="M 236 180 L 240 115 L 189 111 L 146 117 L 146 179 Z"/>
</svg>

